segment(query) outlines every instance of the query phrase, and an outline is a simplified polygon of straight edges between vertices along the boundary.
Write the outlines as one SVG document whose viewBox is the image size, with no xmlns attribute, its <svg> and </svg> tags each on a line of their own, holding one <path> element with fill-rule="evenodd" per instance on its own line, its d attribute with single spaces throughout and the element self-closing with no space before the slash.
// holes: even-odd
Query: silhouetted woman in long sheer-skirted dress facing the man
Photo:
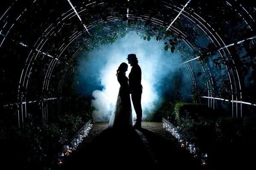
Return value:
<svg viewBox="0 0 256 170">
<path fill-rule="evenodd" d="M 128 65 L 122 62 L 116 71 L 120 88 L 116 107 L 113 110 L 108 127 L 131 127 L 133 125 L 128 78 L 125 76 L 127 69 Z"/>
</svg>

